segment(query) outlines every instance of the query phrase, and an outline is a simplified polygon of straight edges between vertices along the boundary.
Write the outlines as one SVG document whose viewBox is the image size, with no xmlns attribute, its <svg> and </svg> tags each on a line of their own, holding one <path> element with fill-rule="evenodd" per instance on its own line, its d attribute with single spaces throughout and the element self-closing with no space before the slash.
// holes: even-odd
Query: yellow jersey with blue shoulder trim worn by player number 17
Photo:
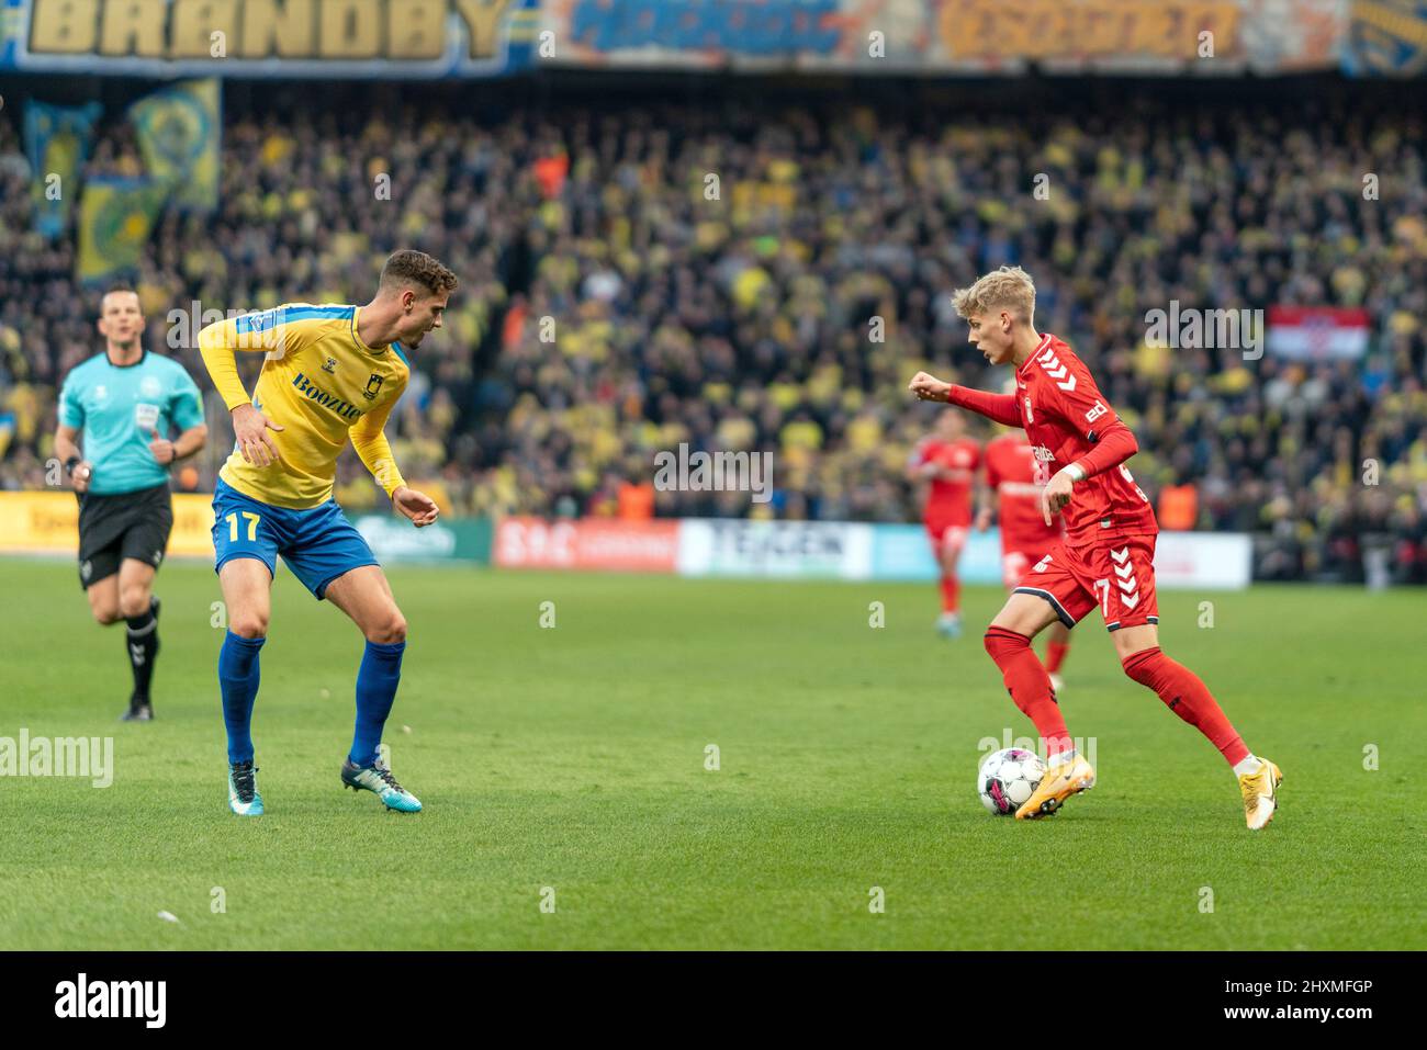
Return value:
<svg viewBox="0 0 1427 1050">
<path fill-rule="evenodd" d="M 398 344 L 374 350 L 357 335 L 361 307 L 288 302 L 220 321 L 198 334 L 198 350 L 228 409 L 248 404 L 234 351 L 264 351 L 251 404 L 283 427 L 267 435 L 278 459 L 244 461 L 237 447 L 218 476 L 271 506 L 308 509 L 332 495 L 337 457 L 352 448 L 390 496 L 405 485 L 382 434 L 411 368 Z"/>
</svg>

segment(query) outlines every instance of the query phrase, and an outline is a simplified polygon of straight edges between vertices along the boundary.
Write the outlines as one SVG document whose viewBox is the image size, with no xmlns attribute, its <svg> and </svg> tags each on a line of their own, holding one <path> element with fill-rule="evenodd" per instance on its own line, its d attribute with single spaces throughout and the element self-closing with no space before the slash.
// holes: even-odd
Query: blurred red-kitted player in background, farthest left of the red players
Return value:
<svg viewBox="0 0 1427 1050">
<path fill-rule="evenodd" d="M 936 434 L 918 442 L 906 468 L 913 482 L 930 481 L 922 524 L 942 569 L 942 615 L 936 629 L 945 638 L 962 633 L 962 586 L 956 579 L 956 562 L 972 525 L 972 486 L 979 467 L 980 445 L 966 437 L 966 421 L 956 412 L 942 412 L 936 419 Z"/>
</svg>

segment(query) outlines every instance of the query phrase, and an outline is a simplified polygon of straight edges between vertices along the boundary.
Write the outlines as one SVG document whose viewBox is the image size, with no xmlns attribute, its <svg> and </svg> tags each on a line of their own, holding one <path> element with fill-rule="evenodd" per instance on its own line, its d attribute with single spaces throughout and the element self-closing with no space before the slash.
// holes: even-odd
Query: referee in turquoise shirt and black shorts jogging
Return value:
<svg viewBox="0 0 1427 1050">
<path fill-rule="evenodd" d="M 168 465 L 203 448 L 208 428 L 183 365 L 144 350 L 136 292 L 104 295 L 98 331 L 104 352 L 76 365 L 60 391 L 54 454 L 80 501 L 80 585 L 90 611 L 100 623 L 128 623 L 134 692 L 124 720 L 147 722 L 158 656 L 154 572 L 174 524 Z"/>
</svg>

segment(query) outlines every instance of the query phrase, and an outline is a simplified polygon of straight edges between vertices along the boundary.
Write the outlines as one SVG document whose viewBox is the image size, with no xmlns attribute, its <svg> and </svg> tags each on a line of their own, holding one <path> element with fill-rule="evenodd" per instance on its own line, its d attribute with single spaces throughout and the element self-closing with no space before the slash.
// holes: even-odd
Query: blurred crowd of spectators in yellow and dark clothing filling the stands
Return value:
<svg viewBox="0 0 1427 1050">
<path fill-rule="evenodd" d="M 168 311 L 364 301 L 390 250 L 420 247 L 461 288 L 388 435 L 448 511 L 915 521 L 902 467 L 932 409 L 906 381 L 1000 388 L 949 292 L 1020 264 L 1037 328 L 1096 371 L 1176 524 L 1261 534 L 1264 576 L 1361 578 L 1386 549 L 1427 581 L 1420 107 L 448 106 L 230 107 L 218 211 L 166 215 L 134 277 L 148 345 L 207 389 Z M 101 350 L 103 290 L 74 282 L 73 237 L 31 228 L 13 108 L 0 485 L 41 488 L 57 385 Z M 123 121 L 88 170 L 140 170 Z M 1147 345 L 1147 311 L 1172 301 L 1363 307 L 1373 337 L 1361 360 L 1310 364 Z M 218 422 L 184 486 L 211 485 Z M 681 442 L 773 449 L 775 498 L 654 492 L 654 454 Z M 350 506 L 380 496 L 351 454 L 338 482 Z"/>
</svg>

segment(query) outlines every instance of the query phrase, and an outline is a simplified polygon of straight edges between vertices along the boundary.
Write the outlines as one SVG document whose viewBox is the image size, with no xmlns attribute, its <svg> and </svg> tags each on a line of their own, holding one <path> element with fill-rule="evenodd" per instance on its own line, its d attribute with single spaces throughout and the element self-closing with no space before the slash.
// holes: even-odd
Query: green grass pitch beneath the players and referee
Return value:
<svg viewBox="0 0 1427 1050">
<path fill-rule="evenodd" d="M 0 778 L 7 949 L 1427 947 L 1420 592 L 1160 595 L 1164 649 L 1284 769 L 1253 835 L 1227 766 L 1097 622 L 1062 703 L 1100 783 L 1026 825 L 973 788 L 983 738 L 1033 736 L 982 651 L 996 589 L 968 589 L 945 642 L 932 585 L 432 568 L 391 571 L 411 626 L 387 742 L 425 812 L 341 790 L 361 639 L 280 569 L 254 722 L 268 813 L 241 820 L 211 569 L 158 576 L 151 725 L 116 720 L 123 633 L 88 619 L 68 562 L 0 576 L 0 736 L 116 749 L 107 789 Z"/>
</svg>

